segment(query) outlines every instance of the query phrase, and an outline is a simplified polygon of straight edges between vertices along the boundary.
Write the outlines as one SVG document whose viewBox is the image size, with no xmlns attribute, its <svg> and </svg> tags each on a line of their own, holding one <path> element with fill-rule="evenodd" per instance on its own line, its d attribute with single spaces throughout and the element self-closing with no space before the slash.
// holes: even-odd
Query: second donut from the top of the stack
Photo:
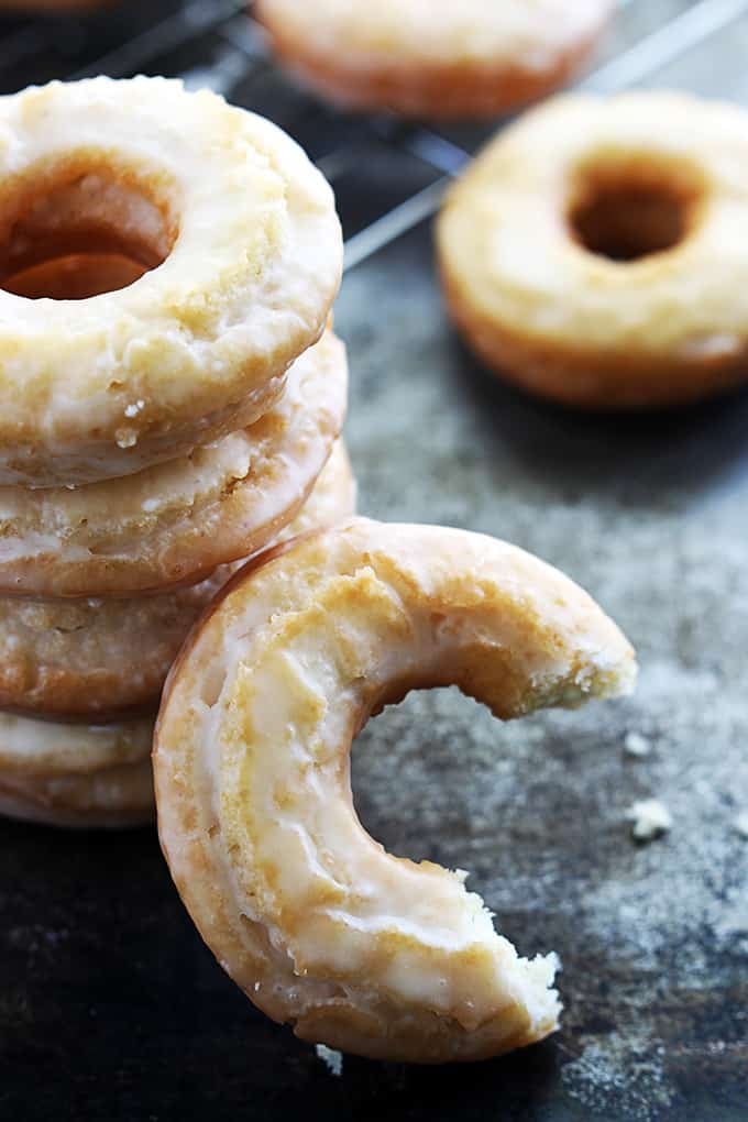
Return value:
<svg viewBox="0 0 748 1122">
<path fill-rule="evenodd" d="M 0 488 L 0 595 L 96 597 L 195 583 L 265 546 L 299 511 L 345 416 L 332 332 L 296 360 L 251 427 L 137 476 Z"/>
</svg>

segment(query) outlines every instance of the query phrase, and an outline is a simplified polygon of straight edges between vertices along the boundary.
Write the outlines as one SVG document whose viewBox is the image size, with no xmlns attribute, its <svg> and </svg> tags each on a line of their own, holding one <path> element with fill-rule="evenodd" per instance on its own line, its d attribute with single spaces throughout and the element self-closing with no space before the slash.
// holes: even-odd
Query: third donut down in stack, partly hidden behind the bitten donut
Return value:
<svg viewBox="0 0 748 1122">
<path fill-rule="evenodd" d="M 355 485 L 339 441 L 302 512 L 276 541 L 348 518 L 354 507 Z M 89 721 L 155 710 L 187 632 L 241 563 L 161 596 L 0 599 L 0 709 Z"/>
</svg>

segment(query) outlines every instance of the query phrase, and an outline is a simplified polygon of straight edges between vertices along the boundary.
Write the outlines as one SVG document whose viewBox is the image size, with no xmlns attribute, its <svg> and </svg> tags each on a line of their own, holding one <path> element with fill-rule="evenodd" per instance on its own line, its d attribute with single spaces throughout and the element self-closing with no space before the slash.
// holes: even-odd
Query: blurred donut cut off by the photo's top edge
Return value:
<svg viewBox="0 0 748 1122">
<path fill-rule="evenodd" d="M 281 61 L 353 109 L 495 117 L 563 84 L 610 0 L 257 0 Z"/>
</svg>

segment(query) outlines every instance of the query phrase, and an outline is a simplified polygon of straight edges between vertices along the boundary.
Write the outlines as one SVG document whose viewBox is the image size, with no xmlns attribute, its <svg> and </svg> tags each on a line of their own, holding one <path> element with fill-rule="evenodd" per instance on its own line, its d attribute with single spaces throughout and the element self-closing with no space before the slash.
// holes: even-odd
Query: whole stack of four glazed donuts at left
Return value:
<svg viewBox="0 0 748 1122">
<path fill-rule="evenodd" d="M 153 719 L 247 557 L 352 512 L 332 192 L 163 79 L 0 108 L 0 809 L 153 817 Z"/>
</svg>

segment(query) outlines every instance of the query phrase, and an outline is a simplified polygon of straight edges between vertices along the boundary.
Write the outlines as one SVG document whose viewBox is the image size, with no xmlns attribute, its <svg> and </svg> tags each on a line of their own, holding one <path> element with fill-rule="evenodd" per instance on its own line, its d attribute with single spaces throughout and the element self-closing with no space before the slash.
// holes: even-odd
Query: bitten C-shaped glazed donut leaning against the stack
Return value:
<svg viewBox="0 0 748 1122">
<path fill-rule="evenodd" d="M 332 1048 L 436 1063 L 545 1037 L 553 956 L 517 958 L 464 874 L 372 842 L 348 752 L 412 689 L 458 684 L 509 718 L 634 675 L 587 594 L 489 537 L 354 519 L 264 554 L 193 631 L 156 726 L 161 847 L 203 938 Z"/>
</svg>

